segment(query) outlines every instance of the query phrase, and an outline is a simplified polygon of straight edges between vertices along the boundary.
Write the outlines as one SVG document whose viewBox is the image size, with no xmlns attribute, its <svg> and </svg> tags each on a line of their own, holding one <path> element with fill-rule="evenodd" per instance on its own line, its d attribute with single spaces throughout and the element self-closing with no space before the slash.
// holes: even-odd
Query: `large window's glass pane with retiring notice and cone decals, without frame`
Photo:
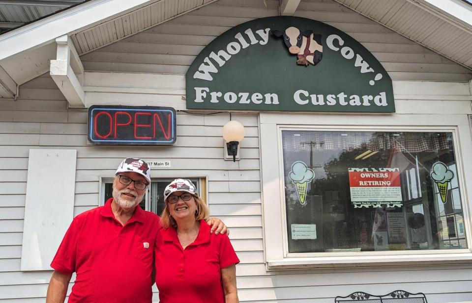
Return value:
<svg viewBox="0 0 472 303">
<path fill-rule="evenodd" d="M 281 136 L 289 253 L 467 248 L 451 132 Z"/>
</svg>

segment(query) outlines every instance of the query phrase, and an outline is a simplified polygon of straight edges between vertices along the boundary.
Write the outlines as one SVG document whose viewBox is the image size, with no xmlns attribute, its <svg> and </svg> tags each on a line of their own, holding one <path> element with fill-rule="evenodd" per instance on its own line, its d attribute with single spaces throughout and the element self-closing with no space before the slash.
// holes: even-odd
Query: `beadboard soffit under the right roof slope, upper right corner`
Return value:
<svg viewBox="0 0 472 303">
<path fill-rule="evenodd" d="M 472 26 L 424 0 L 335 1 L 472 69 Z"/>
</svg>

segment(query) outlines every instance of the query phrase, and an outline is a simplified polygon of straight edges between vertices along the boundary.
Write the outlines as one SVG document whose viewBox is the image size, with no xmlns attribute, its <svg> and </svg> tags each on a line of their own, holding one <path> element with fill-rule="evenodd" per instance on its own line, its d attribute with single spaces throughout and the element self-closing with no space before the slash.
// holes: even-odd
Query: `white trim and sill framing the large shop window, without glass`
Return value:
<svg viewBox="0 0 472 303">
<path fill-rule="evenodd" d="M 296 119 L 294 119 L 296 115 Z M 371 118 L 371 119 L 369 119 Z M 441 119 L 440 119 L 441 118 Z M 471 130 L 467 115 L 329 115 L 261 113 L 261 169 L 263 183 L 264 240 L 268 270 L 292 268 L 358 267 L 400 264 L 464 263 L 472 260 L 471 241 Z M 296 121 L 296 125 L 290 124 Z M 314 124 L 316 122 L 316 124 Z M 436 126 L 432 126 L 432 123 Z M 361 126 L 359 126 L 361 125 Z M 408 125 L 408 126 L 406 126 Z M 469 249 L 398 252 L 288 253 L 283 191 L 281 129 L 346 131 L 449 131 L 453 133 L 454 156 Z M 461 140 L 461 138 L 464 138 Z M 277 165 L 274 165 L 277 163 Z"/>
</svg>

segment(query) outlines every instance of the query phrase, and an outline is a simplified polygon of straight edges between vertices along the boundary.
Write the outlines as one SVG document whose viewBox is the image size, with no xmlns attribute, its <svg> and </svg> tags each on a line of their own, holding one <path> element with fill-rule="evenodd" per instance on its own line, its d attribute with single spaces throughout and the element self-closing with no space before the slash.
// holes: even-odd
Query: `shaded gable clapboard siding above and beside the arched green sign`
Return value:
<svg viewBox="0 0 472 303">
<path fill-rule="evenodd" d="M 219 0 L 81 57 L 88 71 L 184 75 L 195 56 L 235 25 L 278 15 L 276 0 Z M 351 35 L 393 80 L 467 82 L 472 71 L 334 1 L 301 1 L 295 16 Z M 150 100 L 149 100 L 150 101 Z"/>
</svg>

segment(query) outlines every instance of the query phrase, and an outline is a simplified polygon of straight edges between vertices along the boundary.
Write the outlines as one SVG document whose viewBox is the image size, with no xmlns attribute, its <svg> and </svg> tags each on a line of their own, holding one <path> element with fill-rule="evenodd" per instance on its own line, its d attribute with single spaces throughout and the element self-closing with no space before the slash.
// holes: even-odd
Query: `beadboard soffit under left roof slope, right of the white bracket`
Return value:
<svg viewBox="0 0 472 303">
<path fill-rule="evenodd" d="M 126 15 L 71 34 L 79 54 L 94 51 L 217 0 L 160 0 Z"/>
</svg>

